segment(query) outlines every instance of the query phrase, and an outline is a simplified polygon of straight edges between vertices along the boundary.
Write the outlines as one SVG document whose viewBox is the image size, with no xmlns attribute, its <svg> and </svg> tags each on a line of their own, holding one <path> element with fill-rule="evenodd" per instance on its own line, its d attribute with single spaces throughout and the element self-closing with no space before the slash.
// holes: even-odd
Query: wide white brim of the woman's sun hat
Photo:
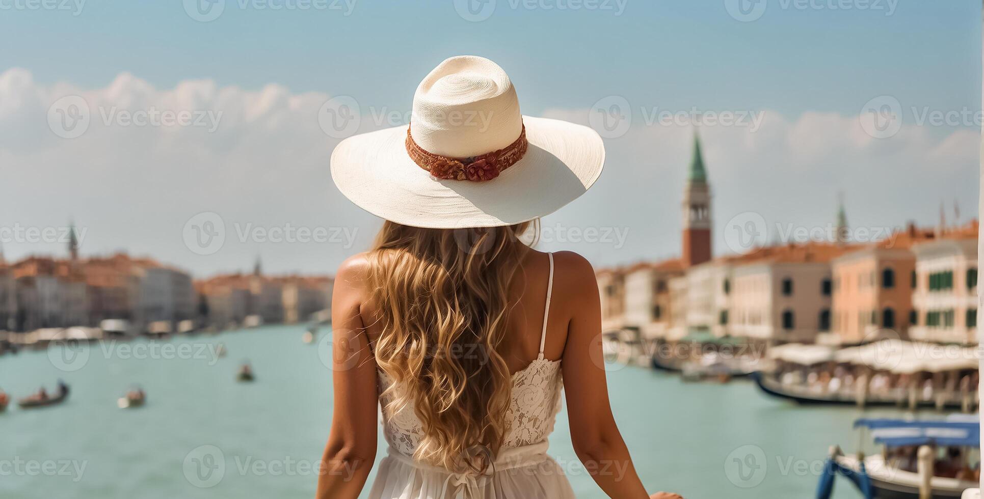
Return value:
<svg viewBox="0 0 984 499">
<path fill-rule="evenodd" d="M 406 153 L 408 125 L 342 140 L 332 179 L 362 209 L 412 227 L 513 225 L 557 211 L 601 175 L 604 143 L 590 128 L 523 116 L 523 159 L 486 182 L 439 180 Z"/>
</svg>

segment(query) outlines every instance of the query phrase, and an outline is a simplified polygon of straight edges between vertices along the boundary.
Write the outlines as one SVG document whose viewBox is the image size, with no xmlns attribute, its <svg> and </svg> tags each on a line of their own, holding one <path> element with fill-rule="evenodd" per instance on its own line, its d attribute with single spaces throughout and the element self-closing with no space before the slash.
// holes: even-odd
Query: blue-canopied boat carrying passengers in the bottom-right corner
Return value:
<svg viewBox="0 0 984 499">
<path fill-rule="evenodd" d="M 830 498 L 837 474 L 849 478 L 865 499 L 958 498 L 979 484 L 976 419 L 862 418 L 854 426 L 870 431 L 875 443 L 884 446 L 882 453 L 845 456 L 834 446 L 821 473 L 817 499 Z"/>
</svg>

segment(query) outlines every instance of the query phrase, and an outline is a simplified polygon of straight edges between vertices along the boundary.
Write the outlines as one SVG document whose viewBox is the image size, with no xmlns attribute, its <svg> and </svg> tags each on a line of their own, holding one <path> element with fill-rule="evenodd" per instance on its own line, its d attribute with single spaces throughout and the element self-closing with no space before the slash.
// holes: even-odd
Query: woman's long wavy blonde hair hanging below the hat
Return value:
<svg viewBox="0 0 984 499">
<path fill-rule="evenodd" d="M 502 446 L 512 378 L 500 352 L 529 227 L 421 229 L 387 221 L 369 252 L 382 328 L 374 354 L 395 381 L 389 390 L 400 386 L 389 409 L 412 402 L 423 423 L 416 460 L 481 470 Z"/>
</svg>

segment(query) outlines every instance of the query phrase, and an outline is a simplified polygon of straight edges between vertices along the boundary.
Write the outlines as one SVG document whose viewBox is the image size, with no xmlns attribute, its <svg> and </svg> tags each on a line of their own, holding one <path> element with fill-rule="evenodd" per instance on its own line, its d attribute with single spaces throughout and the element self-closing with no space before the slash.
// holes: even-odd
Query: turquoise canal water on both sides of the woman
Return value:
<svg viewBox="0 0 984 499">
<path fill-rule="evenodd" d="M 93 344 L 74 358 L 61 349 L 0 358 L 0 387 L 14 397 L 41 383 L 53 389 L 58 378 L 72 387 L 64 405 L 0 414 L 0 497 L 313 497 L 311 466 L 332 414 L 331 370 L 322 361 L 327 342 L 304 344 L 302 333 L 274 326 Z M 228 352 L 220 359 L 219 343 Z M 242 360 L 252 362 L 255 383 L 235 382 Z M 134 383 L 147 391 L 147 405 L 118 409 L 116 399 Z M 651 491 L 810 498 L 830 444 L 858 444 L 850 429 L 858 411 L 796 407 L 747 381 L 684 383 L 613 366 L 608 387 Z M 577 461 L 566 411 L 550 444 L 578 497 L 603 497 Z M 383 449 L 380 436 L 380 456 Z M 835 497 L 860 495 L 842 481 Z"/>
</svg>

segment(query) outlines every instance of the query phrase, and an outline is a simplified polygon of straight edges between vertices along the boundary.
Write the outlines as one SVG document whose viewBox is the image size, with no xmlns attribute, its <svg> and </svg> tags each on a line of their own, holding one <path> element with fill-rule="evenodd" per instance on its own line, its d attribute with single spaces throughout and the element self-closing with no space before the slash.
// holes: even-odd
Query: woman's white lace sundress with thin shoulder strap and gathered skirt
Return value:
<svg viewBox="0 0 984 499">
<path fill-rule="evenodd" d="M 456 473 L 413 460 L 423 437 L 420 419 L 412 404 L 399 411 L 386 409 L 397 393 L 381 397 L 383 432 L 390 444 L 379 464 L 370 499 L 569 499 L 571 484 L 557 463 L 547 456 L 547 437 L 560 410 L 560 360 L 543 358 L 547 315 L 553 289 L 553 255 L 540 354 L 513 374 L 513 395 L 506 415 L 506 439 L 493 467 L 484 473 Z M 393 379 L 379 372 L 380 393 Z M 397 390 L 399 391 L 399 387 Z M 398 392 L 399 393 L 399 392 Z"/>
</svg>

